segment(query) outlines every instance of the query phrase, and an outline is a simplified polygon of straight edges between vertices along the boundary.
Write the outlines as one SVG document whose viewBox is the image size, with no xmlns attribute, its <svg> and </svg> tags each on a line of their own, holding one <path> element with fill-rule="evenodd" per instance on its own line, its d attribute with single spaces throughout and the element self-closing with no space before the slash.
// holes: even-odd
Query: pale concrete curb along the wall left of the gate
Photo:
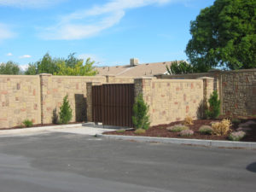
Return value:
<svg viewBox="0 0 256 192">
<path fill-rule="evenodd" d="M 52 129 L 73 128 L 73 127 L 79 127 L 82 125 L 83 124 L 69 124 L 69 125 L 38 126 L 38 127 L 20 128 L 20 129 L 13 129 L 13 130 L 0 130 L 0 136 L 9 135 L 9 134 L 17 134 L 17 133 L 32 133 L 32 132 L 40 132 L 40 131 L 49 131 Z"/>
</svg>

